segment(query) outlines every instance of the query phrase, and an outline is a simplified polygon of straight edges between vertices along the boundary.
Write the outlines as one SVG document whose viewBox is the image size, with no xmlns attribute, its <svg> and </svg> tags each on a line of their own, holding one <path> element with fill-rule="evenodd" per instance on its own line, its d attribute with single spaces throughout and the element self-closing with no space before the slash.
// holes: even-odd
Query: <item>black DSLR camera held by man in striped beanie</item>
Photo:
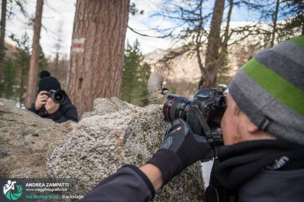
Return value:
<svg viewBox="0 0 304 202">
<path fill-rule="evenodd" d="M 215 156 L 218 148 L 223 145 L 220 121 L 225 109 L 223 92 L 205 88 L 198 90 L 193 99 L 176 94 L 168 95 L 163 114 L 170 123 L 178 118 L 183 119 L 195 134 L 205 136 L 215 149 Z M 209 161 L 213 155 L 208 154 L 203 161 Z"/>
</svg>

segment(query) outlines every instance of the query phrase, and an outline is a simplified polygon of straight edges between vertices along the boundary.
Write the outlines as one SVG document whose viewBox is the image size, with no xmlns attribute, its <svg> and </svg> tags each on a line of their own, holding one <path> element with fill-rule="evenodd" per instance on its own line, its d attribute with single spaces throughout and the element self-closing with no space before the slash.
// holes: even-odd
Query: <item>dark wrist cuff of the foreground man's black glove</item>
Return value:
<svg viewBox="0 0 304 202">
<path fill-rule="evenodd" d="M 147 164 L 153 164 L 161 170 L 164 179 L 163 186 L 183 170 L 179 157 L 169 149 L 158 150 L 157 153 L 147 161 Z"/>
</svg>

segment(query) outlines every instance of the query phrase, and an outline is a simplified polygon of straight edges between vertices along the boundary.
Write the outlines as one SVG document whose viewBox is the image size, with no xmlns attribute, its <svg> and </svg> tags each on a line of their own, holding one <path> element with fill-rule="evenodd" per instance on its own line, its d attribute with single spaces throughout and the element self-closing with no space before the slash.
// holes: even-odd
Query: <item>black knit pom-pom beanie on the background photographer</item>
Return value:
<svg viewBox="0 0 304 202">
<path fill-rule="evenodd" d="M 60 83 L 55 77 L 51 76 L 50 72 L 43 70 L 40 72 L 38 93 L 42 90 L 50 91 L 51 89 L 60 90 L 61 89 Z"/>
</svg>

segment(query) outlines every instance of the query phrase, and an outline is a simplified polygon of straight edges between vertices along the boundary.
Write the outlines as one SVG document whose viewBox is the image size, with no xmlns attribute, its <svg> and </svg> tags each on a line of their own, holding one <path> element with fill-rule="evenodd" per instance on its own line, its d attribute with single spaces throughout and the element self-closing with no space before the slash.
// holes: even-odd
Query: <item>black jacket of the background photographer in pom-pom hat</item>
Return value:
<svg viewBox="0 0 304 202">
<path fill-rule="evenodd" d="M 64 102 L 59 105 L 59 109 L 53 114 L 49 114 L 44 108 L 44 106 L 40 110 L 36 110 L 34 103 L 31 104 L 31 108 L 29 108 L 28 110 L 34 112 L 35 114 L 43 118 L 52 119 L 57 123 L 66 122 L 68 120 L 78 122 L 77 109 L 71 103 L 68 97 L 66 97 Z"/>
</svg>

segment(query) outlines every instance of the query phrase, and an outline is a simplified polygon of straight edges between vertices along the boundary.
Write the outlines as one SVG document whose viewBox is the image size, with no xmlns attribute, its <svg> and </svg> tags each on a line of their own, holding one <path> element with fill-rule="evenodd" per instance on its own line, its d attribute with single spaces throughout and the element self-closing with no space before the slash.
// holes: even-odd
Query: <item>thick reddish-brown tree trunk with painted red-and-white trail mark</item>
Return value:
<svg viewBox="0 0 304 202">
<path fill-rule="evenodd" d="M 66 92 L 78 114 L 97 97 L 119 96 L 129 0 L 78 0 Z"/>
</svg>

